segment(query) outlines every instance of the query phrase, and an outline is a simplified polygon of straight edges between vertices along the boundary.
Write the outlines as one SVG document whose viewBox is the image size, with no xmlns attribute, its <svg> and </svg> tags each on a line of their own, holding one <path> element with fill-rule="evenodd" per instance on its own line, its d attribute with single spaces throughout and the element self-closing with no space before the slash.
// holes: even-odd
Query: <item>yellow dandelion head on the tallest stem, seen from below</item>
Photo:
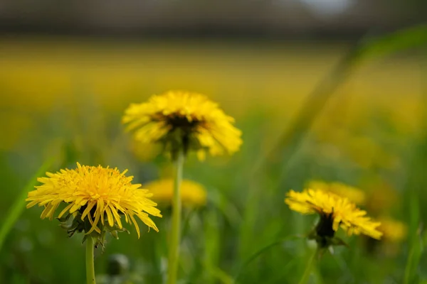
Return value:
<svg viewBox="0 0 427 284">
<path fill-rule="evenodd" d="M 234 119 L 203 94 L 169 91 L 148 102 L 131 104 L 122 123 L 142 143 L 162 143 L 172 156 L 183 149 L 196 151 L 199 158 L 239 150 L 241 131 Z"/>
</svg>

